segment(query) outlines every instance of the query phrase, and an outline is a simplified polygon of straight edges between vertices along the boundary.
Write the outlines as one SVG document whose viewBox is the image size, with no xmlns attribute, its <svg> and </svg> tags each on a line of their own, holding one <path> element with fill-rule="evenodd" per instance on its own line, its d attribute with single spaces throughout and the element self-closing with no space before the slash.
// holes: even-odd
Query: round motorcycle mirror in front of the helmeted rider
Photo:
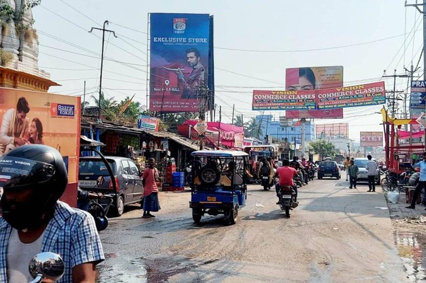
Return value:
<svg viewBox="0 0 426 283">
<path fill-rule="evenodd" d="M 29 262 L 29 273 L 34 280 L 30 283 L 56 282 L 65 273 L 65 263 L 62 258 L 54 253 L 45 252 L 34 256 Z"/>
</svg>

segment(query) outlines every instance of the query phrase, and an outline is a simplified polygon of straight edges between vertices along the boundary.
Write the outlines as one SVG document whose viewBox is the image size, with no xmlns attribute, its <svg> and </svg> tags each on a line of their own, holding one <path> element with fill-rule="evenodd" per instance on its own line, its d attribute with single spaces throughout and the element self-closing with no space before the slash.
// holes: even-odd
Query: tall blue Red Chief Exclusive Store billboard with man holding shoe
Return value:
<svg viewBox="0 0 426 283">
<path fill-rule="evenodd" d="M 150 14 L 149 110 L 196 112 L 196 95 L 209 86 L 210 16 Z"/>
</svg>

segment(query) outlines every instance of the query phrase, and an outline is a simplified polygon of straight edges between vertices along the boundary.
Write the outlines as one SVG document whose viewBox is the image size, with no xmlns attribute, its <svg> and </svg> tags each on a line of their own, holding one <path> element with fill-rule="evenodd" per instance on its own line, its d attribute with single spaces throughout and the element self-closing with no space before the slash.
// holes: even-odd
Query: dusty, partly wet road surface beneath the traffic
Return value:
<svg viewBox="0 0 426 283">
<path fill-rule="evenodd" d="M 286 219 L 274 191 L 251 185 L 233 226 L 193 224 L 190 193 L 162 192 L 155 219 L 133 206 L 101 232 L 98 282 L 407 282 L 384 196 L 366 190 L 315 180 Z"/>
</svg>

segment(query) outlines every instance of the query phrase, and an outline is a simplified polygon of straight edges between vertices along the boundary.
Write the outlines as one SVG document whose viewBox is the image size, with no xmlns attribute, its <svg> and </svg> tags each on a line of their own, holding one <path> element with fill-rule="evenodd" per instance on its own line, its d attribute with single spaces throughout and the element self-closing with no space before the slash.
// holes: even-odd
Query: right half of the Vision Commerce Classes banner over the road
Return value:
<svg viewBox="0 0 426 283">
<path fill-rule="evenodd" d="M 384 104 L 384 82 L 318 90 L 316 102 L 318 110 Z"/>
</svg>

